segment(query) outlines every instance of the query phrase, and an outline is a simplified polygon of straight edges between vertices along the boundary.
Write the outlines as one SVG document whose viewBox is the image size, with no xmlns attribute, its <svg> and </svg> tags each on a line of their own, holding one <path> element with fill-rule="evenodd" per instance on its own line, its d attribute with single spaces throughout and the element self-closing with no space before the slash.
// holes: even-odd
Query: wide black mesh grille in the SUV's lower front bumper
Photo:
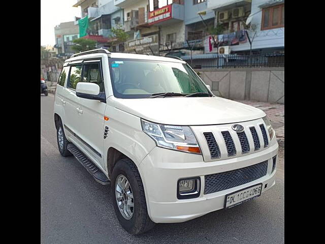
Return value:
<svg viewBox="0 0 325 244">
<path fill-rule="evenodd" d="M 267 174 L 268 161 L 217 174 L 205 175 L 204 194 L 223 191 L 253 180 Z"/>
</svg>

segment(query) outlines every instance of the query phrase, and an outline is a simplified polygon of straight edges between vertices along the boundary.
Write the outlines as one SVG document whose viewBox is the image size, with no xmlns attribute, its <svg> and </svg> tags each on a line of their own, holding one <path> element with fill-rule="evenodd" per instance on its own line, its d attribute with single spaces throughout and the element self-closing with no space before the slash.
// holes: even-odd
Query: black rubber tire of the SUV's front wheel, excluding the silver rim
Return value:
<svg viewBox="0 0 325 244">
<path fill-rule="evenodd" d="M 132 218 L 129 220 L 122 216 L 115 197 L 115 182 L 119 175 L 125 176 L 132 188 L 134 197 L 134 212 Z M 141 234 L 155 226 L 155 223 L 152 222 L 148 216 L 142 180 L 138 169 L 132 160 L 121 159 L 114 166 L 111 177 L 111 195 L 117 219 L 128 233 L 135 235 Z"/>
</svg>

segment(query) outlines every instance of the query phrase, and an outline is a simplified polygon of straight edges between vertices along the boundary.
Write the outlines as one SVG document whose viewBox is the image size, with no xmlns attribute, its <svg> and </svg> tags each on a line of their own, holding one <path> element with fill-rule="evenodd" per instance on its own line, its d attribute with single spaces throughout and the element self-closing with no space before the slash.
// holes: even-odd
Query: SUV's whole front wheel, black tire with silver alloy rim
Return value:
<svg viewBox="0 0 325 244">
<path fill-rule="evenodd" d="M 131 234 L 141 234 L 155 225 L 148 216 L 146 198 L 138 169 L 130 159 L 114 166 L 111 195 L 118 221 Z"/>
</svg>

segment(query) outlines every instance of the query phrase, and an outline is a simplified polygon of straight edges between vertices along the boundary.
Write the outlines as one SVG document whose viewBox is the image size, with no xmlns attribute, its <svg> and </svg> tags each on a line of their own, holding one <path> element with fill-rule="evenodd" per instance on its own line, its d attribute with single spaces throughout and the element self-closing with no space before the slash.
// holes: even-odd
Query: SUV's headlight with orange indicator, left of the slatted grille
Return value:
<svg viewBox="0 0 325 244">
<path fill-rule="evenodd" d="M 168 126 L 141 119 L 142 130 L 150 136 L 157 146 L 201 154 L 197 139 L 188 126 Z"/>
</svg>

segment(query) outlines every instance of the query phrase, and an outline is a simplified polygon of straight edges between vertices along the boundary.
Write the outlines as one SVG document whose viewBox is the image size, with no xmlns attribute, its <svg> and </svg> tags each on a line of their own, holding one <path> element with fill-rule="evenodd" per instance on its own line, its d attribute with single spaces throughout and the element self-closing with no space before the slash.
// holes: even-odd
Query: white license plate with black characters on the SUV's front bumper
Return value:
<svg viewBox="0 0 325 244">
<path fill-rule="evenodd" d="M 247 187 L 237 192 L 230 193 L 228 195 L 225 195 L 224 207 L 225 208 L 234 207 L 243 202 L 252 200 L 255 197 L 261 196 L 261 193 L 262 193 L 262 183 L 252 187 Z"/>
</svg>

